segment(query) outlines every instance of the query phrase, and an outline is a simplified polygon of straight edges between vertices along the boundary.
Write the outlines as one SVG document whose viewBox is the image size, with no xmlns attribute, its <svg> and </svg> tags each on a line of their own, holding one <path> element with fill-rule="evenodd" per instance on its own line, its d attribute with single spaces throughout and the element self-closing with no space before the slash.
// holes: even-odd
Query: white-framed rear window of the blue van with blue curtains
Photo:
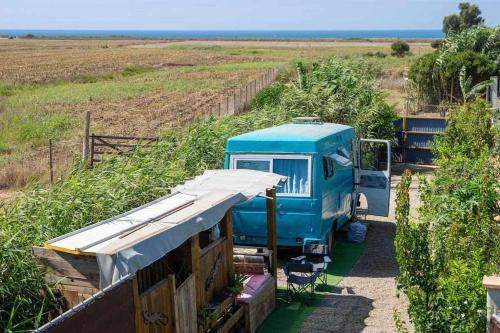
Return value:
<svg viewBox="0 0 500 333">
<path fill-rule="evenodd" d="M 333 167 L 333 163 L 332 163 Z M 307 155 L 231 155 L 230 168 L 274 172 L 287 177 L 279 196 L 311 195 L 311 157 Z"/>
</svg>

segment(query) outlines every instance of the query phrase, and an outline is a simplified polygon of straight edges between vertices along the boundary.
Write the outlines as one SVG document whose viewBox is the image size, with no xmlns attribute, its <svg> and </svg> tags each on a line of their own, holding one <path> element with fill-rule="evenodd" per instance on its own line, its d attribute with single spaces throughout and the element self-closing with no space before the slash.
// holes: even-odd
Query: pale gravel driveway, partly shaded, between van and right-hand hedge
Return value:
<svg viewBox="0 0 500 333">
<path fill-rule="evenodd" d="M 429 174 L 432 169 L 411 167 Z M 366 247 L 350 274 L 325 296 L 321 304 L 304 322 L 301 332 L 395 332 L 393 313 L 397 309 L 408 323 L 407 301 L 397 297 L 395 277 L 399 270 L 395 260 L 395 187 L 402 167 L 393 170 L 390 215 L 387 218 L 368 216 Z M 418 205 L 418 186 L 411 186 L 411 201 Z M 411 213 L 416 217 L 415 210 Z M 411 327 L 409 327 L 411 330 Z"/>
</svg>

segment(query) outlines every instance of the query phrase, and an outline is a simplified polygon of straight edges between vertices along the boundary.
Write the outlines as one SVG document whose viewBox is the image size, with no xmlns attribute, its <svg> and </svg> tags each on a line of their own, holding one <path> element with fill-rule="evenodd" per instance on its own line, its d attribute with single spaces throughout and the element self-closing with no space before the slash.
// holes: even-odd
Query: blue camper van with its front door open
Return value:
<svg viewBox="0 0 500 333">
<path fill-rule="evenodd" d="M 357 140 L 350 126 L 297 119 L 230 138 L 226 169 L 252 169 L 287 177 L 276 189 L 279 246 L 333 243 L 333 232 L 355 211 L 359 195 L 368 213 L 387 216 L 390 144 Z M 234 242 L 266 243 L 265 198 L 233 208 Z"/>
</svg>

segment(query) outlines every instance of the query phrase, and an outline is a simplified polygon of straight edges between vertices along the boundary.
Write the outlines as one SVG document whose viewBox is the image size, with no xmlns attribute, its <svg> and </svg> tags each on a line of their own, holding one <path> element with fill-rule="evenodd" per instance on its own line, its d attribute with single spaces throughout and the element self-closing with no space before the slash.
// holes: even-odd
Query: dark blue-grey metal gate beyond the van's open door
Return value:
<svg viewBox="0 0 500 333">
<path fill-rule="evenodd" d="M 403 116 L 394 122 L 394 127 L 394 162 L 432 164 L 431 144 L 446 129 L 446 118 Z"/>
</svg>

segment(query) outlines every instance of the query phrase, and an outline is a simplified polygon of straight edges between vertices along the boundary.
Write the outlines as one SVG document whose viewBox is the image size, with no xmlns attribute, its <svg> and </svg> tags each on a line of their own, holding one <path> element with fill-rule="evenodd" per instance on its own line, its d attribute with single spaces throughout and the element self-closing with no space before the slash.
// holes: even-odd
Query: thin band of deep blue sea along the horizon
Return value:
<svg viewBox="0 0 500 333">
<path fill-rule="evenodd" d="M 388 41 L 443 38 L 439 30 L 331 30 L 331 31 L 141 31 L 141 30 L 17 30 L 0 29 L 2 37 L 44 39 L 154 39 L 251 41 Z"/>
</svg>

